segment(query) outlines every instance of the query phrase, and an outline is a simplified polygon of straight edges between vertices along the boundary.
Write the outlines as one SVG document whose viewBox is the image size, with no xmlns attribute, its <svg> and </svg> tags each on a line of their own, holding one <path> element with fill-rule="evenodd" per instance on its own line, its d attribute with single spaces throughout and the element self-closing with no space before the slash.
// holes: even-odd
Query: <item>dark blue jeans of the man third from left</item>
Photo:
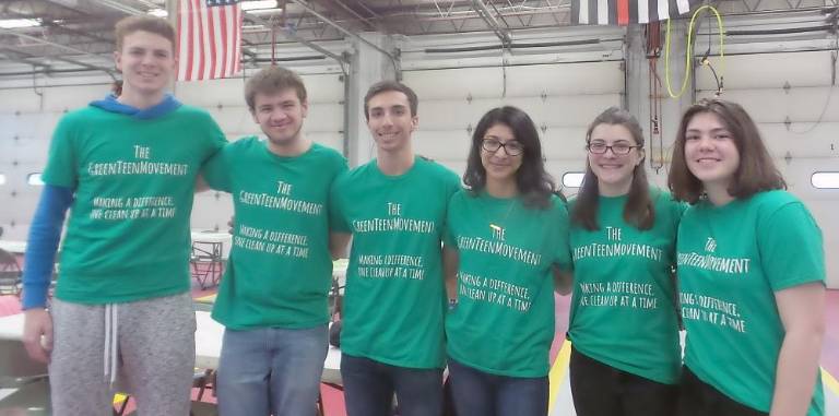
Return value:
<svg viewBox="0 0 839 416">
<path fill-rule="evenodd" d="M 347 416 L 439 416 L 442 369 L 397 367 L 364 357 L 341 355 L 341 378 Z"/>
</svg>

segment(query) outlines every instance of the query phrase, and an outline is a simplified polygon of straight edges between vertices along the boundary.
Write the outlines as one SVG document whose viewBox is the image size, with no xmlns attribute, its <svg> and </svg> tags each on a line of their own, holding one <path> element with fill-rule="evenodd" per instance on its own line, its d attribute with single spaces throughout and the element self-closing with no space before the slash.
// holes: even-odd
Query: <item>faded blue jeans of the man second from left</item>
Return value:
<svg viewBox="0 0 839 416">
<path fill-rule="evenodd" d="M 222 416 L 315 415 L 327 325 L 224 331 L 216 389 Z"/>
</svg>

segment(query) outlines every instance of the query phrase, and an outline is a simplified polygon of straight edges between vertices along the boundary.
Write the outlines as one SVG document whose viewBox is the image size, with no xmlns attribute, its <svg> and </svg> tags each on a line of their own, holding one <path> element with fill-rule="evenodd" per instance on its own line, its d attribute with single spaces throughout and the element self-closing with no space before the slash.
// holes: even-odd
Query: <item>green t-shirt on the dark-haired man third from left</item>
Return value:
<svg viewBox="0 0 839 416">
<path fill-rule="evenodd" d="M 449 198 L 460 179 L 416 157 L 399 176 L 376 161 L 335 180 L 330 215 L 353 234 L 341 350 L 392 366 L 442 368 L 441 247 Z"/>
</svg>

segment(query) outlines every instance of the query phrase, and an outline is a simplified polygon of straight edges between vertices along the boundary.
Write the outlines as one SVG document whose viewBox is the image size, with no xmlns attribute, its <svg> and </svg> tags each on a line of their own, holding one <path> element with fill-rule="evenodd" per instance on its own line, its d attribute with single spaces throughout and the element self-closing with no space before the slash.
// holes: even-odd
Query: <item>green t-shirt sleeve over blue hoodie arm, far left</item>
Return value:
<svg viewBox="0 0 839 416">
<path fill-rule="evenodd" d="M 70 118 L 63 117 L 52 132 L 47 166 L 42 175 L 44 183 L 76 189 L 79 161 L 74 135 L 75 124 Z"/>
</svg>

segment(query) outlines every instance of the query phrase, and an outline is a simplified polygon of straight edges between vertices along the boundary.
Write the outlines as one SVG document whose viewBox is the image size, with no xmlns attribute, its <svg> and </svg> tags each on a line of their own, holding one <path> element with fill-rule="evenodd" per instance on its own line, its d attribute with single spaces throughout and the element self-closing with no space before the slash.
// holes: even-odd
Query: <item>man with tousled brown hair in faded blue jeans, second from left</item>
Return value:
<svg viewBox="0 0 839 416">
<path fill-rule="evenodd" d="M 314 415 L 329 347 L 329 189 L 346 161 L 303 136 L 308 102 L 294 72 L 261 70 L 248 80 L 245 97 L 268 140 L 233 142 L 203 170 L 213 189 L 233 194 L 236 213 L 213 308 L 225 325 L 218 409 Z"/>
</svg>

